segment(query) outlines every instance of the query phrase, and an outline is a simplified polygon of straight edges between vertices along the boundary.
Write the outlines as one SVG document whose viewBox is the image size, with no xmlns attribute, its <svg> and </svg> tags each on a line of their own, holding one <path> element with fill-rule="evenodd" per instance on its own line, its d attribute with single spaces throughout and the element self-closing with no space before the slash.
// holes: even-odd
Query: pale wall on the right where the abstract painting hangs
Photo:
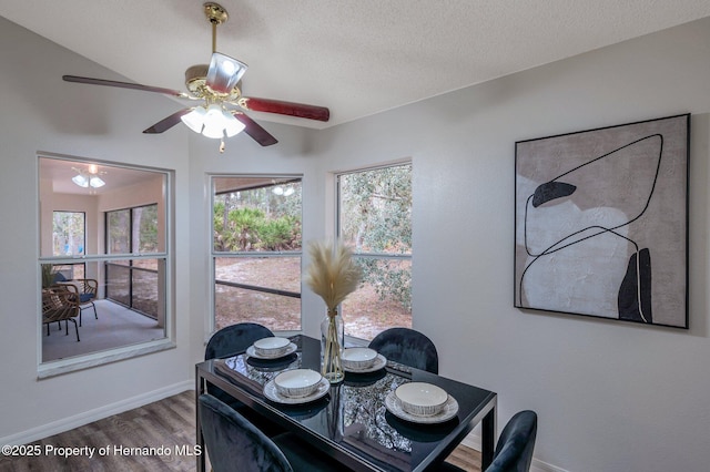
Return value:
<svg viewBox="0 0 710 472">
<path fill-rule="evenodd" d="M 514 308 L 515 142 L 686 112 L 691 329 Z M 326 130 L 317 152 L 326 170 L 413 158 L 414 327 L 443 374 L 499 394 L 499 429 L 538 412 L 538 461 L 704 471 L 708 112 L 710 19 Z"/>
</svg>

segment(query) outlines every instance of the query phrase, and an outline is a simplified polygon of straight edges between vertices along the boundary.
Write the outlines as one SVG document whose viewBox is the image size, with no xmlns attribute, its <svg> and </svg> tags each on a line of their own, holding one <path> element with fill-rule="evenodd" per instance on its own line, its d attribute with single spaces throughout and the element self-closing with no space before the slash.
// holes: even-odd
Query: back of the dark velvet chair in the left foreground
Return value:
<svg viewBox="0 0 710 472">
<path fill-rule="evenodd" d="M 206 393 L 197 408 L 214 472 L 293 472 L 281 449 L 235 410 Z"/>
</svg>

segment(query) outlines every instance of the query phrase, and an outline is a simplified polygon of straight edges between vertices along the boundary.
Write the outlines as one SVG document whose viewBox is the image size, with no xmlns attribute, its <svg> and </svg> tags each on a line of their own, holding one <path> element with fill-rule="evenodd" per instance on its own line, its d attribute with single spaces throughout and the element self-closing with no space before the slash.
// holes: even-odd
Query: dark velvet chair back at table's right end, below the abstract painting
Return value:
<svg viewBox="0 0 710 472">
<path fill-rule="evenodd" d="M 486 472 L 528 472 L 532 462 L 537 414 L 525 410 L 517 412 L 506 424 Z"/>
</svg>

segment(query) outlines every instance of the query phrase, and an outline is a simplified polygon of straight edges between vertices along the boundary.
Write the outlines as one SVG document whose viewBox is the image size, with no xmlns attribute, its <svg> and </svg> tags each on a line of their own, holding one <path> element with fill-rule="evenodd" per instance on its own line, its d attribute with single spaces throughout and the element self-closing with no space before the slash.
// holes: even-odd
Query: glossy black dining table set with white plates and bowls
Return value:
<svg viewBox="0 0 710 472">
<path fill-rule="evenodd" d="M 372 367 L 346 370 L 343 381 L 327 383 L 310 397 L 283 397 L 273 389 L 280 372 L 320 371 L 321 366 L 320 339 L 296 335 L 290 340 L 291 349 L 277 359 L 265 359 L 252 347 L 197 363 L 195 402 L 214 386 L 353 471 L 433 470 L 480 424 L 481 469 L 490 464 L 497 434 L 495 392 L 377 356 Z M 407 382 L 444 389 L 444 409 L 429 417 L 404 411 L 393 396 Z M 195 410 L 197 445 L 205 451 L 200 409 Z M 204 453 L 196 460 L 203 472 Z"/>
</svg>

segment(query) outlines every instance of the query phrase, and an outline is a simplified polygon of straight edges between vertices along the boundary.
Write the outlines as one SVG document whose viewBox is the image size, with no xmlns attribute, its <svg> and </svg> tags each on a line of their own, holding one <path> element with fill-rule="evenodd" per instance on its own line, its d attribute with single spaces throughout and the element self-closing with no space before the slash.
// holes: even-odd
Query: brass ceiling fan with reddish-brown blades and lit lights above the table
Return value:
<svg viewBox="0 0 710 472">
<path fill-rule="evenodd" d="M 209 65 L 192 65 L 185 71 L 187 92 L 77 75 L 63 75 L 62 79 L 67 82 L 118 86 L 200 101 L 202 102 L 200 105 L 180 110 L 150 126 L 143 133 L 162 133 L 182 121 L 196 133 L 221 140 L 220 152 L 224 152 L 224 137 L 234 136 L 241 131 L 244 131 L 262 146 L 277 143 L 274 136 L 244 114 L 243 110 L 323 122 L 329 120 L 331 111 L 325 106 L 242 95 L 241 79 L 246 72 L 247 65 L 216 51 L 216 28 L 227 20 L 229 14 L 217 3 L 207 2 L 203 7 L 207 20 L 212 23 L 212 60 Z"/>
</svg>

